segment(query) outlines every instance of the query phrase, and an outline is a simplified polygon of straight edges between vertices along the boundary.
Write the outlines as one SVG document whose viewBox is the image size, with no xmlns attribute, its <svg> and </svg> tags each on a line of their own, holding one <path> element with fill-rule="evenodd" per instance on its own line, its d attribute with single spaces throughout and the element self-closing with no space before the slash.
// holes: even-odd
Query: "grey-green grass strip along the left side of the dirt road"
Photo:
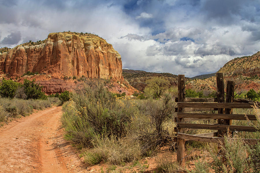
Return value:
<svg viewBox="0 0 260 173">
<path fill-rule="evenodd" d="M 13 118 L 27 116 L 33 112 L 33 109 L 42 110 L 51 106 L 48 100 L 0 98 L 0 124 L 8 123 Z"/>
</svg>

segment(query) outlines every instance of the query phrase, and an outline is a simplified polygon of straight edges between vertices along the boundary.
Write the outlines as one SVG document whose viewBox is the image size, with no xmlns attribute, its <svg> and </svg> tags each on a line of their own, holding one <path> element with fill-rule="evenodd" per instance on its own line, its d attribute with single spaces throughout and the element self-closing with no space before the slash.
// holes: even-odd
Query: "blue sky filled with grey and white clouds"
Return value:
<svg viewBox="0 0 260 173">
<path fill-rule="evenodd" d="M 0 0 L 0 47 L 90 32 L 123 68 L 193 77 L 260 50 L 259 0 Z"/>
</svg>

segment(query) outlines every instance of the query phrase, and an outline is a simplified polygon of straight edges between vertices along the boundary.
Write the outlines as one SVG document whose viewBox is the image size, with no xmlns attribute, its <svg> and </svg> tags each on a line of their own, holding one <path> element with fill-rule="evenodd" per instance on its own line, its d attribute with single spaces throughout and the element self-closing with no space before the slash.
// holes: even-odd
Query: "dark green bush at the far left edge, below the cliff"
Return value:
<svg viewBox="0 0 260 173">
<path fill-rule="evenodd" d="M 2 80 L 0 86 L 0 95 L 1 97 L 6 98 L 14 98 L 16 89 L 20 86 L 18 82 L 14 82 L 13 80 Z"/>
</svg>

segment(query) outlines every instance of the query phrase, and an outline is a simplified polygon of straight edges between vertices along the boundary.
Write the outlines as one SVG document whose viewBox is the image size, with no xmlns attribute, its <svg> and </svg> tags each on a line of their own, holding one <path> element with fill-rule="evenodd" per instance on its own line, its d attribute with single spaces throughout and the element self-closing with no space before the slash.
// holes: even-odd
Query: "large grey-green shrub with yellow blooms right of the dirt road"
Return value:
<svg viewBox="0 0 260 173">
<path fill-rule="evenodd" d="M 81 147 L 93 147 L 95 136 L 127 135 L 132 116 L 137 111 L 133 100 L 117 99 L 100 80 L 86 80 L 81 89 L 72 93 L 63 106 L 66 137 Z"/>
</svg>

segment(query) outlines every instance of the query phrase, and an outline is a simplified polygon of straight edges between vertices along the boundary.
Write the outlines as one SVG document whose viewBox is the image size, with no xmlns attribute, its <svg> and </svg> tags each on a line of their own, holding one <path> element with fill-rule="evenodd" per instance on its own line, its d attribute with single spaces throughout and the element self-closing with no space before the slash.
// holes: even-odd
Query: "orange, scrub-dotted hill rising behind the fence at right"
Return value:
<svg viewBox="0 0 260 173">
<path fill-rule="evenodd" d="M 235 81 L 235 91 L 241 93 L 254 89 L 260 90 L 260 52 L 252 56 L 237 57 L 227 62 L 218 72 L 224 73 L 224 84 L 226 80 Z M 202 75 L 203 76 L 203 75 Z M 196 79 L 197 76 L 191 78 L 185 83 L 185 88 L 191 88 L 197 91 L 209 90 L 216 91 L 216 76 Z"/>
</svg>

